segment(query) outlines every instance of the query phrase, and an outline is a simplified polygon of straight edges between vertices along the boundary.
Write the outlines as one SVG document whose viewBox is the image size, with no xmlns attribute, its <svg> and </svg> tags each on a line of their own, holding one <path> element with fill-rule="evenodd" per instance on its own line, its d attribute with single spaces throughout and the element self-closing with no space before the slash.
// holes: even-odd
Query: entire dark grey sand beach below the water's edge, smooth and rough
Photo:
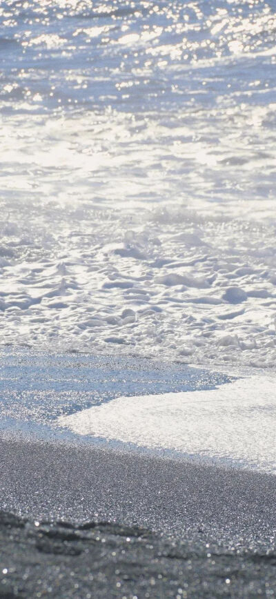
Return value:
<svg viewBox="0 0 276 599">
<path fill-rule="evenodd" d="M 3 434 L 0 444 L 1 598 L 276 595 L 275 477 Z"/>
</svg>

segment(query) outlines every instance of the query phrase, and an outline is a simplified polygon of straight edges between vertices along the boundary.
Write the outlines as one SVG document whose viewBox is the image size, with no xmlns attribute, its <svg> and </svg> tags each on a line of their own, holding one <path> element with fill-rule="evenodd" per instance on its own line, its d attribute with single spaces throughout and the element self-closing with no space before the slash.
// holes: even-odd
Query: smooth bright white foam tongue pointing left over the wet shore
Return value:
<svg viewBox="0 0 276 599">
<path fill-rule="evenodd" d="M 263 375 L 212 391 L 118 397 L 58 423 L 79 435 L 276 473 L 275 383 Z"/>
</svg>

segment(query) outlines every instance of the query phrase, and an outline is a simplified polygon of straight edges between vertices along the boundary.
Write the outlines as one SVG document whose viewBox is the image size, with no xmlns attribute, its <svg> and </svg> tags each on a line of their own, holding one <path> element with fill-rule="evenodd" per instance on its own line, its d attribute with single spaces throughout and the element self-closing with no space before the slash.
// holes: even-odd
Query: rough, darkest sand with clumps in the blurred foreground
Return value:
<svg viewBox="0 0 276 599">
<path fill-rule="evenodd" d="M 0 513 L 1 598 L 257 598 L 276 553 L 172 542 L 118 524 L 26 522 Z"/>
</svg>

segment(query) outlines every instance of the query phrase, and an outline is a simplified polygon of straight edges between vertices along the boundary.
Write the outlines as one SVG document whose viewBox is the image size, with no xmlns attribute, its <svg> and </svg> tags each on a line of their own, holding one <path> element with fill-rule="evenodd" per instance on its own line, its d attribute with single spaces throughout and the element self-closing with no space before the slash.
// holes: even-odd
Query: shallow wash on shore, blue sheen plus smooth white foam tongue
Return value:
<svg viewBox="0 0 276 599">
<path fill-rule="evenodd" d="M 274 373 L 35 350 L 0 358 L 4 438 L 276 473 Z"/>
</svg>

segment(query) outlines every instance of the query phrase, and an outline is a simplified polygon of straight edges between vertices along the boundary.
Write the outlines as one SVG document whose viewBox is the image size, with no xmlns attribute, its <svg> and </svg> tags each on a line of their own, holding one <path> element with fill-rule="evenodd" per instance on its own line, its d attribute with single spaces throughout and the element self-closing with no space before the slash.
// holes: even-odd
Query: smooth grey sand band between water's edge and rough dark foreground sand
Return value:
<svg viewBox="0 0 276 599">
<path fill-rule="evenodd" d="M 36 520 L 112 520 L 206 542 L 271 548 L 276 477 L 0 435 L 1 509 Z"/>
</svg>

